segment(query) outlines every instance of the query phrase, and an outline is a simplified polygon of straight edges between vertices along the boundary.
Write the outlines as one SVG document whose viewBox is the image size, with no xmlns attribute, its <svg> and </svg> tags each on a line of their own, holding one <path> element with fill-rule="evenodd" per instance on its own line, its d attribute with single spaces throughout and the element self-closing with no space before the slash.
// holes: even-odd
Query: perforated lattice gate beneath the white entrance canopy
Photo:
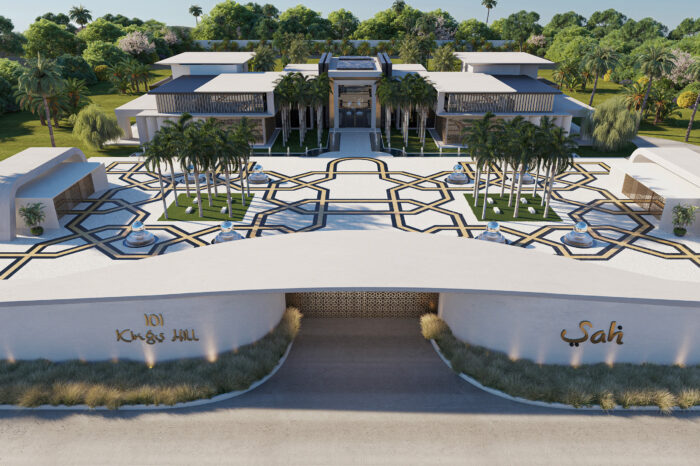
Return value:
<svg viewBox="0 0 700 466">
<path fill-rule="evenodd" d="M 287 306 L 304 317 L 412 318 L 437 312 L 439 293 L 410 291 L 320 291 L 287 293 Z"/>
</svg>

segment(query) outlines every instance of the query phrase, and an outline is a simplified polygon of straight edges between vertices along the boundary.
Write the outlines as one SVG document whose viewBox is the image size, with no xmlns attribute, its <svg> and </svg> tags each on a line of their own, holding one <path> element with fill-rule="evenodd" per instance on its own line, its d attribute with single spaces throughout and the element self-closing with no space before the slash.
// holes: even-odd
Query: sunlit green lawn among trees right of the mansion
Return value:
<svg viewBox="0 0 700 466">
<path fill-rule="evenodd" d="M 554 81 L 554 79 L 552 79 L 552 70 L 540 70 L 539 76 L 541 78 Z M 602 79 L 598 80 L 598 89 L 596 90 L 595 97 L 593 98 L 593 106 L 595 107 L 601 102 L 604 102 L 605 100 L 616 95 L 621 95 L 623 89 L 623 86 L 619 84 L 606 82 Z M 590 84 L 586 88 L 585 92 L 580 90 L 569 91 L 567 89 L 563 89 L 563 92 L 585 104 L 588 104 L 592 90 L 593 85 Z M 692 113 L 693 111 L 691 109 L 681 109 L 679 117 L 668 119 L 658 125 L 652 124 L 653 119 L 649 118 L 642 122 L 639 129 L 639 135 L 684 141 L 685 132 L 688 129 L 688 123 L 690 122 L 690 115 Z M 700 119 L 696 119 L 696 121 L 693 122 L 693 130 L 691 131 L 690 138 L 688 139 L 690 144 L 700 145 L 700 121 L 698 120 Z"/>
</svg>

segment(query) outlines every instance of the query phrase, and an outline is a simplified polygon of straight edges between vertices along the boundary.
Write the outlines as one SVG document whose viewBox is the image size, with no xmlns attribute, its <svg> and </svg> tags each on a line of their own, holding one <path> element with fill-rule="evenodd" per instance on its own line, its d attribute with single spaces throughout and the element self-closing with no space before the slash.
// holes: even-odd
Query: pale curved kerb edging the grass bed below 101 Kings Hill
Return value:
<svg viewBox="0 0 700 466">
<path fill-rule="evenodd" d="M 186 401 L 186 402 L 182 402 L 182 403 L 175 403 L 174 405 L 123 405 L 117 409 L 107 408 L 106 406 L 96 406 L 94 408 L 91 408 L 88 405 L 74 405 L 74 406 L 41 405 L 41 406 L 35 406 L 35 407 L 31 407 L 31 408 L 24 407 L 24 406 L 16 406 L 16 405 L 0 405 L 0 410 L 2 410 L 2 411 L 158 411 L 158 410 L 196 408 L 199 406 L 206 406 L 206 405 L 213 404 L 213 403 L 219 403 L 219 402 L 225 401 L 225 400 L 230 400 L 231 398 L 236 398 L 237 396 L 241 396 L 241 395 L 246 394 L 252 390 L 255 390 L 260 385 L 267 382 L 269 379 L 272 378 L 272 376 L 274 376 L 277 373 L 277 371 L 280 369 L 280 367 L 282 367 L 284 362 L 287 360 L 287 356 L 289 355 L 289 352 L 292 350 L 293 344 L 294 344 L 293 341 L 289 343 L 289 345 L 287 346 L 287 349 L 285 350 L 284 354 L 280 358 L 279 362 L 270 371 L 270 373 L 267 374 L 262 379 L 253 382 L 250 385 L 250 387 L 246 388 L 245 390 L 238 390 L 235 392 L 222 393 L 221 395 L 216 395 L 216 396 L 213 396 L 213 397 L 207 398 L 207 399 Z"/>
</svg>

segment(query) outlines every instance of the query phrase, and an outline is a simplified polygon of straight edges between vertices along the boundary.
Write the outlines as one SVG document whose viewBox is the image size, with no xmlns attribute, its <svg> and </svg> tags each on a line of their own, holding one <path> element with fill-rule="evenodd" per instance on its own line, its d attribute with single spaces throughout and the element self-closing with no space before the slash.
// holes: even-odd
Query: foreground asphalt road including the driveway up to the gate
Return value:
<svg viewBox="0 0 700 466">
<path fill-rule="evenodd" d="M 698 464 L 700 414 L 529 407 L 456 377 L 414 320 L 308 319 L 251 393 L 161 412 L 0 412 L 0 465 Z"/>
</svg>

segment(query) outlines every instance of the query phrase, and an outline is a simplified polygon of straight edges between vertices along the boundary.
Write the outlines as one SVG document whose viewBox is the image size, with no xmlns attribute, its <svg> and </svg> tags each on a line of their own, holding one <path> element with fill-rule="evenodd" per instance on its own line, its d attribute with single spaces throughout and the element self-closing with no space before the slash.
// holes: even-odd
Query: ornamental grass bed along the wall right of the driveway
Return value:
<svg viewBox="0 0 700 466">
<path fill-rule="evenodd" d="M 511 396 L 575 406 L 657 406 L 668 413 L 700 405 L 700 366 L 584 364 L 578 367 L 512 360 L 458 340 L 435 314 L 421 317 L 421 332 L 435 340 L 452 369 Z"/>
</svg>

